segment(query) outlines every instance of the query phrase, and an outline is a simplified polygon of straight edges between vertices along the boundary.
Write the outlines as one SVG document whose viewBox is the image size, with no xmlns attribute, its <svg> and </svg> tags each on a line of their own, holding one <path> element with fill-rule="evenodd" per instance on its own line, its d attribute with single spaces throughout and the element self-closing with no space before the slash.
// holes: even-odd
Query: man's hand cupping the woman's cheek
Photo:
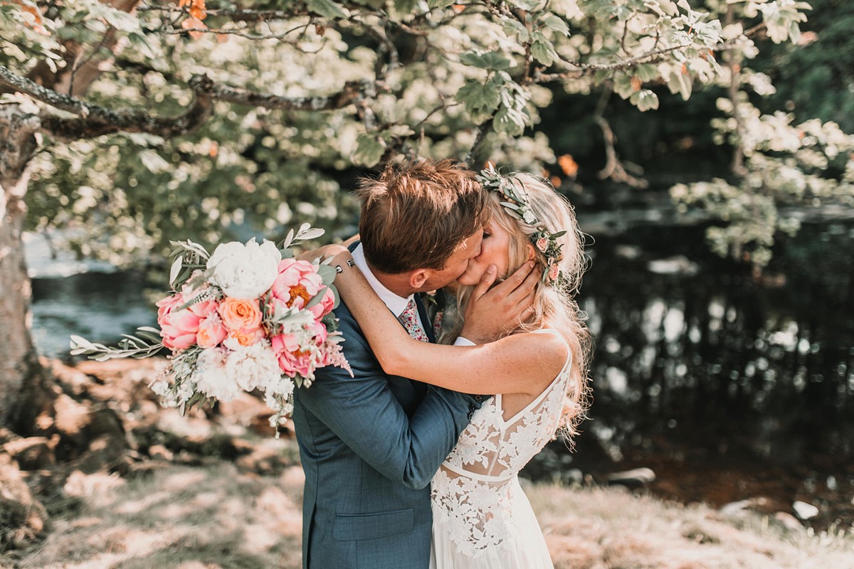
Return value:
<svg viewBox="0 0 854 569">
<path fill-rule="evenodd" d="M 459 335 L 475 344 L 488 344 L 518 328 L 534 314 L 534 290 L 540 276 L 534 261 L 529 261 L 492 287 L 497 270 L 490 265 L 471 292 Z"/>
</svg>

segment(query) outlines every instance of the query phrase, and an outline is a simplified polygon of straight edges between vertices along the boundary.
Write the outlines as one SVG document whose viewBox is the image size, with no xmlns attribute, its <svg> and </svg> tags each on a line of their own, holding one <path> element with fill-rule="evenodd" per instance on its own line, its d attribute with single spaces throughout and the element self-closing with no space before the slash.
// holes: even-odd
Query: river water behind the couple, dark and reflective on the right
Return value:
<svg viewBox="0 0 854 569">
<path fill-rule="evenodd" d="M 819 508 L 814 527 L 850 527 L 850 212 L 805 219 L 761 276 L 709 253 L 702 224 L 654 212 L 581 222 L 594 237 L 580 294 L 596 342 L 594 400 L 576 450 L 555 441 L 525 472 L 605 482 L 651 467 L 660 496 L 717 506 L 763 498 L 769 511 L 800 500 Z M 66 357 L 69 334 L 111 341 L 154 322 L 142 273 L 57 274 L 30 248 L 34 335 L 46 355 Z"/>
</svg>

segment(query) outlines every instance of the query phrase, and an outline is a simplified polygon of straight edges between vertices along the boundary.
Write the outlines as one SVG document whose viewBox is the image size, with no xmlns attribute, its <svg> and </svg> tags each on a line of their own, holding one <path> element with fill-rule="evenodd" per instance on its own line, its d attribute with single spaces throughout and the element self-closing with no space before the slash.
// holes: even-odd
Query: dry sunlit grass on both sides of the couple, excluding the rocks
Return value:
<svg viewBox="0 0 854 569">
<path fill-rule="evenodd" d="M 299 467 L 263 477 L 227 462 L 132 480 L 77 474 L 66 491 L 82 505 L 54 517 L 49 537 L 11 566 L 297 569 L 302 480 Z M 854 568 L 851 535 L 811 536 L 755 514 L 725 520 L 618 489 L 526 491 L 557 569 Z"/>
</svg>

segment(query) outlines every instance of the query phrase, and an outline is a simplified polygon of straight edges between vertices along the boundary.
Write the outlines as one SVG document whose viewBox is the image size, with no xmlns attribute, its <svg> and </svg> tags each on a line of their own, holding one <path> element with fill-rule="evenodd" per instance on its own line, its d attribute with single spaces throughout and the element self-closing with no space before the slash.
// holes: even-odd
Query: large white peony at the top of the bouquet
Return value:
<svg viewBox="0 0 854 569">
<path fill-rule="evenodd" d="M 246 245 L 237 241 L 222 243 L 208 259 L 208 270 L 213 270 L 211 281 L 226 296 L 235 299 L 257 299 L 272 287 L 278 276 L 278 263 L 282 253 L 272 241 Z"/>
</svg>

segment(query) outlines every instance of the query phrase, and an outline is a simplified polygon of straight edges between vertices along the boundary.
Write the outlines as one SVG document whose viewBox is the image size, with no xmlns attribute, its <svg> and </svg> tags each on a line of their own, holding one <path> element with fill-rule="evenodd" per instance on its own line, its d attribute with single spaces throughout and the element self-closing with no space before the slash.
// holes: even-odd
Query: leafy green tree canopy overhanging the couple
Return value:
<svg viewBox="0 0 854 569">
<path fill-rule="evenodd" d="M 556 99 L 616 96 L 655 120 L 659 95 L 687 100 L 705 86 L 719 93 L 705 112 L 731 168 L 671 194 L 721 221 L 709 232 L 717 251 L 764 264 L 775 233 L 798 227 L 781 204 L 852 195 L 851 136 L 760 111 L 775 89 L 748 67 L 763 45 L 802 42 L 809 9 L 0 0 L 0 107 L 38 136 L 26 160 L 0 150 L 0 179 L 26 166 L 29 226 L 64 229 L 80 253 L 120 263 L 176 235 L 277 237 L 303 221 L 340 229 L 354 218 L 354 177 L 401 157 L 490 160 L 560 185 L 585 165 L 556 156 L 543 133 L 541 111 Z M 601 175 L 642 186 L 600 107 Z"/>
</svg>

